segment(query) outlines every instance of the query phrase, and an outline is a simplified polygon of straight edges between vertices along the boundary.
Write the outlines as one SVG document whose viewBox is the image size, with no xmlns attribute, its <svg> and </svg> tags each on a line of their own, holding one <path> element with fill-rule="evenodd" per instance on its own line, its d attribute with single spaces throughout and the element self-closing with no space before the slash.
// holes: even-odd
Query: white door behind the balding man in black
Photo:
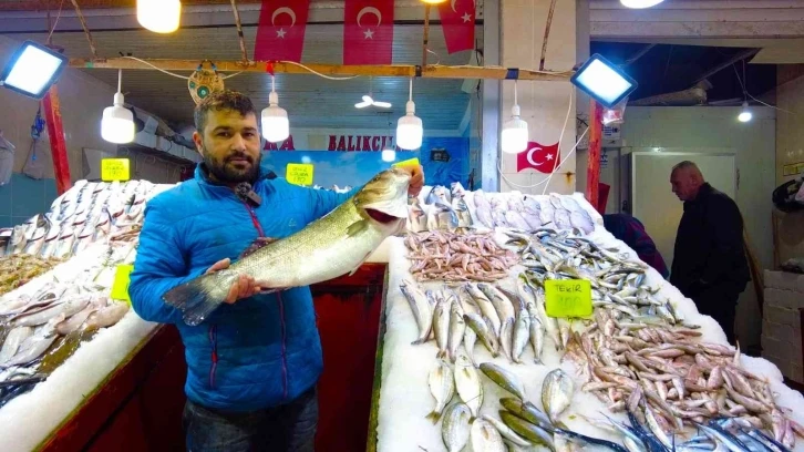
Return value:
<svg viewBox="0 0 804 452">
<path fill-rule="evenodd" d="M 734 154 L 631 153 L 632 214 L 642 222 L 668 267 L 672 265 L 676 233 L 683 214 L 683 203 L 672 193 L 670 173 L 676 164 L 683 161 L 694 162 L 714 188 L 732 199 L 736 197 Z"/>
</svg>

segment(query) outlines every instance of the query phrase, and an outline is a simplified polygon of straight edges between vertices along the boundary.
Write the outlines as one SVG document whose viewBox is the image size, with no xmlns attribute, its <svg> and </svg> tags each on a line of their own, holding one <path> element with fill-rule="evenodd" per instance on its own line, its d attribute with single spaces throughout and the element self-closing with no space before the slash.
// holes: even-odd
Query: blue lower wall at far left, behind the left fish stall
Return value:
<svg viewBox="0 0 804 452">
<path fill-rule="evenodd" d="M 25 223 L 30 217 L 50 210 L 58 197 L 55 179 L 32 179 L 13 173 L 11 181 L 0 186 L 0 227 Z"/>
</svg>

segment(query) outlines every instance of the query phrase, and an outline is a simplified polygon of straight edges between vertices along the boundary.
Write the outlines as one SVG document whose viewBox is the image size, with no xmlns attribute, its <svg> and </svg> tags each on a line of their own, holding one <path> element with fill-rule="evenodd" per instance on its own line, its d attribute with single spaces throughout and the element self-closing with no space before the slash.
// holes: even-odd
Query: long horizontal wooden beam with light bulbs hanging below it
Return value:
<svg viewBox="0 0 804 452">
<path fill-rule="evenodd" d="M 155 68 L 165 71 L 195 71 L 198 68 L 198 60 L 137 60 L 128 58 L 110 58 L 110 59 L 70 59 L 71 68 L 81 69 L 125 69 L 125 70 L 155 70 Z M 151 64 L 151 65 L 148 65 Z M 243 61 L 215 61 L 215 65 L 219 72 L 268 72 L 269 62 L 251 61 L 244 63 Z M 342 64 L 299 64 L 288 62 L 275 62 L 274 72 L 285 74 L 311 74 L 316 71 L 326 75 L 334 76 L 416 76 L 416 66 L 414 65 L 342 65 Z M 421 69 L 421 76 L 424 79 L 492 79 L 505 80 L 508 76 L 506 68 L 482 68 L 482 66 L 444 66 L 427 65 Z M 567 72 L 539 72 L 525 69 L 518 70 L 518 80 L 537 80 L 542 82 L 566 82 L 573 75 L 573 71 Z"/>
</svg>

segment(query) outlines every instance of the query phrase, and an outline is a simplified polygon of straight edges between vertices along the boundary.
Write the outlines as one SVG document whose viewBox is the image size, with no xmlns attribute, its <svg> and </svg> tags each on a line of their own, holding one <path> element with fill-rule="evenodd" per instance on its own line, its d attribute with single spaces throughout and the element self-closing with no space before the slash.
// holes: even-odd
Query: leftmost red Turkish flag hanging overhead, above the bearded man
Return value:
<svg viewBox="0 0 804 452">
<path fill-rule="evenodd" d="M 310 0 L 262 0 L 259 11 L 257 61 L 301 61 Z"/>
</svg>

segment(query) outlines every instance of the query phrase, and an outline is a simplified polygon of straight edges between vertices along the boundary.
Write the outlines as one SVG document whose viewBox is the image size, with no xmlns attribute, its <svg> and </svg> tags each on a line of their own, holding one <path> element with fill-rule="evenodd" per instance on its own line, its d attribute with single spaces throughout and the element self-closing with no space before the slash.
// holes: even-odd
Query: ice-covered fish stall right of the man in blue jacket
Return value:
<svg viewBox="0 0 804 452">
<path fill-rule="evenodd" d="M 390 244 L 369 450 L 804 451 L 802 394 L 581 195 L 440 191 Z M 589 281 L 592 316 L 547 316 L 555 279 Z"/>
</svg>

